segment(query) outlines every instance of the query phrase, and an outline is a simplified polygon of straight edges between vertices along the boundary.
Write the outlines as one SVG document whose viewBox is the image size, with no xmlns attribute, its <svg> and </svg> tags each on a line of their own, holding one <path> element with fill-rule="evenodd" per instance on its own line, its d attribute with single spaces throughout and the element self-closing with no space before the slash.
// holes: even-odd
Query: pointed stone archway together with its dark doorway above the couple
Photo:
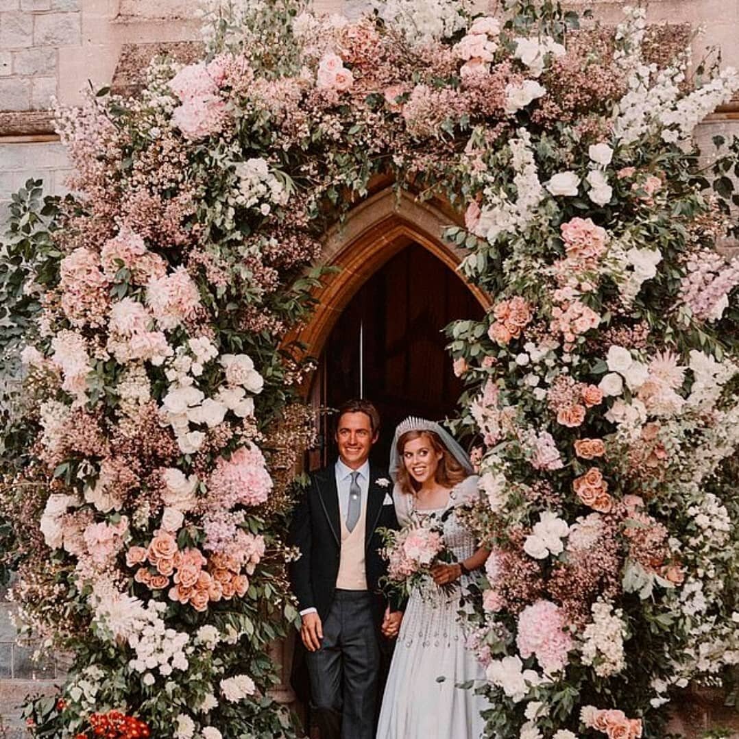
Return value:
<svg viewBox="0 0 739 739">
<path fill-rule="evenodd" d="M 305 388 L 313 406 L 365 395 L 378 404 L 386 429 L 407 413 L 443 418 L 454 411 L 463 386 L 452 373 L 443 328 L 480 318 L 490 304 L 457 270 L 466 252 L 442 240 L 457 219 L 442 202 L 386 188 L 327 234 L 321 261 L 338 270 L 316 293 L 313 319 L 293 337 L 319 358 Z M 311 467 L 327 461 L 325 418 L 321 439 Z M 381 437 L 379 457 L 388 444 Z"/>
</svg>

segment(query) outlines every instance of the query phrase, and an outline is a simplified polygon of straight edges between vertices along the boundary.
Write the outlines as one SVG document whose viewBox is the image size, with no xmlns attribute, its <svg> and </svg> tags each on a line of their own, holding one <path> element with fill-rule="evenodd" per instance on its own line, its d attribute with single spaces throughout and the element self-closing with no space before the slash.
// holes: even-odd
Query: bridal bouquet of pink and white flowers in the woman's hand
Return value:
<svg viewBox="0 0 739 739">
<path fill-rule="evenodd" d="M 385 584 L 401 596 L 409 596 L 427 582 L 435 563 L 450 559 L 439 522 L 411 522 L 400 531 L 386 528 L 381 534 L 385 543 L 382 555 L 389 562 Z"/>
</svg>

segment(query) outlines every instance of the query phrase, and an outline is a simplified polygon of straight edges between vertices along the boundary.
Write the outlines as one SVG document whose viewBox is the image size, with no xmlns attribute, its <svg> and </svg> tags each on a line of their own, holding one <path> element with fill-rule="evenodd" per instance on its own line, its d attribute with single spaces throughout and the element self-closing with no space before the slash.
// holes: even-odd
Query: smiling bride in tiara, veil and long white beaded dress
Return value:
<svg viewBox="0 0 739 739">
<path fill-rule="evenodd" d="M 469 457 L 438 423 L 406 418 L 390 454 L 392 494 L 398 522 L 430 517 L 443 522 L 443 536 L 456 562 L 432 568 L 429 582 L 410 596 L 387 678 L 378 739 L 477 739 L 486 698 L 456 687 L 482 681 L 483 667 L 465 646 L 457 617 L 470 572 L 488 551 L 477 548 L 457 520 L 457 506 L 476 500 L 477 477 Z M 451 588 L 439 585 L 451 583 Z M 395 636 L 387 633 L 386 636 Z"/>
</svg>

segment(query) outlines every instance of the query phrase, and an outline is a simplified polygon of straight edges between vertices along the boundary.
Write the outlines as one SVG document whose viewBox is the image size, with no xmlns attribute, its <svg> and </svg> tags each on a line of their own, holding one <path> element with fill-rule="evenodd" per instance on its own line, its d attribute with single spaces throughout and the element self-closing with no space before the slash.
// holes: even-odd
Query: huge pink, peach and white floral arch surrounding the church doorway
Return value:
<svg viewBox="0 0 739 739">
<path fill-rule="evenodd" d="M 3 535 L 21 619 L 75 655 L 30 723 L 293 735 L 267 649 L 296 619 L 311 419 L 284 338 L 321 234 L 384 174 L 464 214 L 443 236 L 494 296 L 449 330 L 493 551 L 467 624 L 488 735 L 661 735 L 739 658 L 739 269 L 713 250 L 737 145 L 706 177 L 690 143 L 737 75 L 692 74 L 639 10 L 615 33 L 548 1 L 302 10 L 218 10 L 201 62 L 60 111 L 77 195 L 14 197 Z"/>
</svg>

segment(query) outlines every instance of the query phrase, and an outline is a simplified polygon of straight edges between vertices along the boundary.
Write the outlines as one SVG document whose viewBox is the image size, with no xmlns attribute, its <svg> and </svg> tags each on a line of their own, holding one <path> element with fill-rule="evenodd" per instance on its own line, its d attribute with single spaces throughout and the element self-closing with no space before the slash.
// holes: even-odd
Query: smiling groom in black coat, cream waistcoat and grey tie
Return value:
<svg viewBox="0 0 739 739">
<path fill-rule="evenodd" d="M 402 614 L 378 593 L 386 573 L 377 529 L 398 528 L 392 487 L 369 464 L 380 417 L 372 403 L 339 409 L 338 460 L 310 474 L 293 514 L 291 544 L 301 556 L 290 582 L 308 650 L 310 692 L 321 739 L 373 739 L 380 671 L 379 631 L 398 634 Z"/>
</svg>

